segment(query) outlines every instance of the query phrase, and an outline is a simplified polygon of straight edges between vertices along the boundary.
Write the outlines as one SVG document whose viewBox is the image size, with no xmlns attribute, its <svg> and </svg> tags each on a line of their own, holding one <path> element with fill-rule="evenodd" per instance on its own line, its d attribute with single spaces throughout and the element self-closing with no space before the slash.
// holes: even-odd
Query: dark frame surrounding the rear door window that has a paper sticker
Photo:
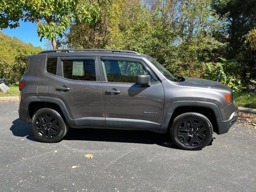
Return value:
<svg viewBox="0 0 256 192">
<path fill-rule="evenodd" d="M 94 65 L 95 65 L 95 74 L 96 74 L 96 80 L 95 81 L 88 81 L 88 80 L 76 80 L 76 79 L 69 79 L 64 77 L 63 73 L 63 62 L 62 61 L 66 60 L 94 60 Z M 69 80 L 69 81 L 80 81 L 80 82 L 101 82 L 101 76 L 100 76 L 100 68 L 99 68 L 99 62 L 98 59 L 95 56 L 63 56 L 59 57 L 58 60 L 58 67 L 57 69 L 57 76 L 59 78 Z"/>
</svg>

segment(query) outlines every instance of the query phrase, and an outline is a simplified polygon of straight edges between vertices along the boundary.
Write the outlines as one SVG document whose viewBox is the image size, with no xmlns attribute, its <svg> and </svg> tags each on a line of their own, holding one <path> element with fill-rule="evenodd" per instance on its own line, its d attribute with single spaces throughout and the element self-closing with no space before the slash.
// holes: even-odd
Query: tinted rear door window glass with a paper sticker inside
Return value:
<svg viewBox="0 0 256 192">
<path fill-rule="evenodd" d="M 62 66 L 64 78 L 96 81 L 94 60 L 64 60 Z"/>
</svg>

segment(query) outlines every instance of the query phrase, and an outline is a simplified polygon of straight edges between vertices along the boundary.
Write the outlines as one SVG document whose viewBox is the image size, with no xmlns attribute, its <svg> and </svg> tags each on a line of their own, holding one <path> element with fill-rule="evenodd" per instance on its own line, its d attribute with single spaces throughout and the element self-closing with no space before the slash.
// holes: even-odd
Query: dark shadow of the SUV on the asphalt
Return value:
<svg viewBox="0 0 256 192">
<path fill-rule="evenodd" d="M 10 130 L 12 131 L 12 134 L 14 136 L 26 137 L 28 140 L 40 142 L 34 137 L 32 130 L 30 128 L 30 124 L 24 124 L 20 121 L 20 119 L 16 119 L 12 122 Z M 161 134 L 144 130 L 69 128 L 68 133 L 63 138 L 63 140 L 157 144 L 167 148 L 179 149 L 172 142 L 172 139 L 168 134 Z M 209 145 L 212 145 L 212 141 L 210 142 Z"/>
</svg>

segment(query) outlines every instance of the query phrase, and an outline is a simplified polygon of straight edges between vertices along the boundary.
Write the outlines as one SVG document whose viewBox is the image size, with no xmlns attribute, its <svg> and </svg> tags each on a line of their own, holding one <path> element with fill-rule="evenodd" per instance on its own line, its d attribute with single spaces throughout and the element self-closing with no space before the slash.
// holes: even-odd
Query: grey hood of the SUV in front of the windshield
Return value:
<svg viewBox="0 0 256 192">
<path fill-rule="evenodd" d="M 180 84 L 184 86 L 204 87 L 232 91 L 229 87 L 222 83 L 205 79 L 185 78 L 185 81 L 180 82 Z"/>
</svg>

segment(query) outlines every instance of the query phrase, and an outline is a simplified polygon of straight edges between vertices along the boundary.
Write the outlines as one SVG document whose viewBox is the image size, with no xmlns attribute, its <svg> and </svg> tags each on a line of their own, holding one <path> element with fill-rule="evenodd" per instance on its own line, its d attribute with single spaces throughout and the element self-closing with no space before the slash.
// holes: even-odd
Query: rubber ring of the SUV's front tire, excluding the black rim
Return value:
<svg viewBox="0 0 256 192">
<path fill-rule="evenodd" d="M 178 133 L 177 133 L 178 126 L 180 125 L 180 123 L 182 121 L 188 120 L 188 119 L 199 120 L 206 127 L 206 132 L 207 132 L 206 138 L 205 138 L 204 142 L 202 142 L 201 144 L 199 144 L 197 146 L 188 146 L 188 145 L 182 143 L 180 141 L 180 139 L 178 138 Z M 212 129 L 212 124 L 211 124 L 210 120 L 206 116 L 199 114 L 199 113 L 189 112 L 189 113 L 181 114 L 181 115 L 177 116 L 176 118 L 174 118 L 173 123 L 170 126 L 170 134 L 171 134 L 173 142 L 178 147 L 180 147 L 184 150 L 201 150 L 202 148 L 207 146 L 210 143 L 210 141 L 212 140 L 213 129 Z"/>
</svg>

